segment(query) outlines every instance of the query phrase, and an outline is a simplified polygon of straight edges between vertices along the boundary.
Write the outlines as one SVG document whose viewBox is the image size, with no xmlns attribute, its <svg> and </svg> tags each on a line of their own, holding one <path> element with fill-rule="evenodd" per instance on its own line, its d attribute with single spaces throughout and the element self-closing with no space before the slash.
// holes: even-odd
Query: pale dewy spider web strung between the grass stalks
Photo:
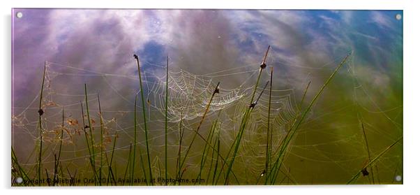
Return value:
<svg viewBox="0 0 420 195">
<path fill-rule="evenodd" d="M 269 58 L 267 64 L 273 66 L 291 66 L 293 68 L 303 68 L 308 71 L 314 69 L 329 70 L 340 62 L 340 58 L 334 59 L 328 64 L 314 68 L 308 66 L 299 66 L 292 62 Z M 148 66 L 149 68 L 144 68 Z M 143 83 L 144 83 L 144 101 L 147 106 L 147 123 L 149 125 L 149 144 L 151 145 L 151 165 L 153 175 L 164 174 L 164 138 L 165 138 L 165 97 L 166 97 L 166 77 L 162 75 L 165 71 L 165 65 L 153 64 L 146 62 L 142 66 L 144 69 Z M 103 147 L 105 152 L 104 158 L 109 159 L 114 152 L 114 166 L 117 170 L 121 170 L 117 175 L 122 177 L 123 170 L 128 164 L 128 153 L 130 145 L 140 146 L 142 150 L 142 159 L 144 164 L 147 162 L 145 155 L 144 129 L 142 117 L 137 118 L 137 125 L 140 131 L 138 134 L 139 140 L 133 143 L 133 110 L 134 110 L 134 96 L 139 93 L 138 78 L 135 73 L 103 73 L 100 71 L 93 71 L 90 68 L 81 67 L 72 64 L 60 64 L 57 62 L 46 62 L 45 64 L 45 89 L 44 98 L 42 101 L 42 108 L 45 110 L 45 117 L 43 117 L 43 141 L 46 143 L 46 148 L 43 153 L 43 166 L 47 168 L 47 172 L 52 175 L 52 167 L 54 165 L 54 154 L 58 150 L 59 143 L 63 141 L 62 150 L 62 167 L 77 171 L 82 177 L 89 177 L 93 173 L 89 166 L 89 153 L 84 142 L 84 128 L 81 114 L 80 103 L 84 102 L 84 93 L 80 86 L 70 84 L 71 81 L 89 80 L 87 99 L 89 103 L 89 112 L 91 113 L 91 123 L 93 125 L 93 136 L 95 138 L 95 149 L 100 150 Z M 385 121 L 392 124 L 396 131 L 380 129 L 375 122 L 367 122 L 363 120 L 363 124 L 368 131 L 368 134 L 375 135 L 375 140 L 383 140 L 384 144 L 377 144 L 370 151 L 374 157 L 380 151 L 389 145 L 392 140 L 396 140 L 396 133 L 402 132 L 400 122 L 397 117 L 401 115 L 402 106 L 384 110 L 375 103 L 375 99 L 369 96 L 368 89 L 359 81 L 357 73 L 354 71 L 355 67 L 352 62 L 348 63 L 346 73 L 352 78 L 352 88 L 354 104 L 349 106 L 340 105 L 340 103 L 331 103 L 329 108 L 325 108 L 328 112 L 323 110 L 311 111 L 310 116 L 304 121 L 302 129 L 297 131 L 297 136 L 292 141 L 290 147 L 287 149 L 285 157 L 285 166 L 280 168 L 280 183 L 343 183 L 368 161 L 368 154 L 365 149 L 365 141 L 363 140 L 363 133 L 360 129 L 360 119 L 353 123 L 337 124 L 338 127 L 333 126 L 334 121 L 329 120 L 329 117 L 342 113 L 343 110 L 352 109 L 357 105 L 361 109 L 361 113 L 368 113 L 373 116 L 379 116 Z M 133 69 L 135 70 L 135 69 Z M 243 117 L 244 109 L 249 106 L 251 95 L 253 92 L 253 85 L 259 67 L 255 64 L 249 64 L 237 68 L 229 68 L 221 71 L 206 74 L 190 73 L 186 70 L 172 68 L 168 75 L 168 171 L 170 175 L 174 175 L 175 162 L 177 161 L 177 151 L 179 148 L 179 123 L 182 122 L 182 131 L 185 133 L 183 143 L 181 145 L 181 154 L 184 154 L 188 148 L 191 137 L 195 133 L 200 118 L 204 114 L 205 107 L 209 101 L 209 97 L 216 88 L 216 83 L 220 81 L 220 94 L 214 96 L 209 107 L 209 113 L 205 119 L 200 133 L 207 136 L 210 129 L 216 129 L 213 135 L 209 136 L 207 142 L 213 144 L 216 139 L 220 139 L 221 154 L 225 156 L 230 145 L 234 142 L 235 136 L 239 131 L 241 119 Z M 235 82 L 233 87 L 224 87 L 224 82 L 229 82 L 232 76 L 238 76 L 239 82 Z M 269 71 L 262 72 L 262 80 L 269 79 Z M 309 79 L 306 78 L 306 82 Z M 107 102 L 103 105 L 103 124 L 104 136 L 103 145 L 99 144 L 100 136 L 100 115 L 98 107 L 98 89 L 89 88 L 90 83 L 93 86 L 100 88 L 101 102 Z M 70 86 L 69 86 L 70 85 Z M 276 85 L 274 83 L 273 85 Z M 302 86 L 306 85 L 303 83 Z M 230 85 L 229 85 L 230 86 Z M 75 89 L 77 88 L 77 89 Z M 303 89 L 272 89 L 271 107 L 269 110 L 269 89 L 263 89 L 261 86 L 257 87 L 257 93 L 261 95 L 257 106 L 250 115 L 248 126 L 243 135 L 237 161 L 234 164 L 234 174 L 239 181 L 239 184 L 255 184 L 258 183 L 262 171 L 265 167 L 266 159 L 266 145 L 267 145 L 267 117 L 271 113 L 271 129 L 273 129 L 273 153 L 271 158 L 274 159 L 278 155 L 278 145 L 290 129 L 294 117 L 301 112 L 299 105 L 300 99 L 297 99 L 297 91 L 303 92 Z M 37 119 L 37 103 L 40 94 L 33 96 L 33 100 L 27 103 L 25 107 L 13 106 L 13 147 L 17 148 L 17 156 L 22 161 L 22 166 L 28 168 L 29 173 L 34 173 L 36 166 L 36 150 L 39 145 L 39 130 Z M 366 106 L 360 103 L 360 97 L 368 99 Z M 309 97 L 308 99 L 310 99 Z M 140 98 L 139 98 L 140 99 Z M 141 100 L 139 100 L 141 101 Z M 15 103 L 16 104 L 16 103 Z M 141 116 L 141 106 L 137 102 L 137 116 Z M 363 106 L 365 105 L 365 106 Z M 369 110 L 370 109 L 370 110 Z M 62 114 L 64 112 L 64 116 Z M 397 112 L 397 113 L 395 113 Z M 85 113 L 86 114 L 86 113 Z M 367 114 L 366 114 L 367 115 Z M 217 121 L 217 122 L 216 122 Z M 62 125 L 61 122 L 64 122 Z M 84 122 L 87 123 L 85 119 Z M 331 123 L 331 124 L 329 124 Z M 317 127 L 329 127 L 329 129 L 319 129 Z M 351 130 L 350 130 L 351 129 Z M 63 130 L 63 137 L 61 138 L 61 130 Z M 318 138 L 314 142 L 313 137 Z M 370 136 L 371 137 L 371 136 Z M 112 143 L 114 138 L 117 138 L 117 144 L 112 150 Z M 24 144 L 21 140 L 27 141 Z M 196 140 L 193 150 L 191 151 L 186 161 L 186 175 L 184 177 L 196 178 L 198 170 L 200 169 L 200 159 L 202 157 L 202 150 L 206 143 L 203 140 Z M 277 146 L 277 147 L 276 147 Z M 24 149 L 25 148 L 25 149 Z M 33 150 L 27 150 L 33 148 Z M 207 161 L 204 163 L 203 178 L 209 178 L 211 166 L 214 166 L 216 161 L 221 163 L 220 159 L 214 154 L 214 151 L 207 152 Z M 182 157 L 182 155 L 181 155 Z M 106 164 L 104 160 L 103 164 Z M 375 163 L 377 179 L 384 182 L 394 182 L 395 175 L 402 173 L 400 168 L 402 160 L 402 153 L 392 152 L 387 154 Z M 98 158 L 96 164 L 98 164 Z M 348 166 L 352 164 L 354 166 Z M 138 165 L 140 166 L 140 164 Z M 145 165 L 146 166 L 146 165 Z M 311 174 L 304 174 L 315 170 L 317 166 L 323 166 L 322 173 L 325 175 L 316 175 L 317 171 L 312 171 Z M 210 167 L 210 168 L 209 168 Z M 325 171 L 326 167 L 331 167 L 330 170 Z M 379 168 L 378 168 L 379 167 Z M 64 169 L 63 168 L 63 169 Z M 70 171 L 70 172 L 71 172 Z M 67 171 L 63 171 L 66 173 Z M 326 173 L 325 173 L 326 172 Z M 136 175 L 142 175 L 141 168 L 137 168 Z M 301 176 L 305 175 L 305 176 Z M 327 176 L 326 176 L 327 175 Z M 336 179 L 331 178 L 336 177 Z M 329 178 L 324 178 L 329 177 Z M 318 181 L 319 180 L 319 181 Z M 360 182 L 368 183 L 370 178 L 361 178 Z M 237 184 L 233 182 L 232 184 Z"/>
</svg>

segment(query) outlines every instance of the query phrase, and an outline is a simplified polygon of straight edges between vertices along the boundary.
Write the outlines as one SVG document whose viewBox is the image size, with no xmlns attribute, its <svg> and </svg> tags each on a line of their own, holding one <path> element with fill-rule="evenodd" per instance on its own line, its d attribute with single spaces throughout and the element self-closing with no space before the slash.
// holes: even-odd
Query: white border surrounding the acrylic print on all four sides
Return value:
<svg viewBox="0 0 420 195">
<path fill-rule="evenodd" d="M 147 3 L 146 3 L 147 2 Z M 161 0 L 161 1 L 128 1 L 128 0 L 73 0 L 73 1 L 1 1 L 1 92 L 6 91 L 6 95 L 1 95 L 1 191 L 6 194 L 74 194 L 74 193 L 96 193 L 96 194 L 116 194 L 110 188 L 75 188 L 77 192 L 50 188 L 33 189 L 31 191 L 22 189 L 10 189 L 10 8 L 246 8 L 246 9 L 362 9 L 362 10 L 404 10 L 404 185 L 382 185 L 382 186 L 280 186 L 280 187 L 118 187 L 115 189 L 127 189 L 124 192 L 131 193 L 167 193 L 167 194 L 219 194 L 226 190 L 235 194 L 257 194 L 260 190 L 268 193 L 282 194 L 412 194 L 419 192 L 417 181 L 419 181 L 419 141 L 420 128 L 416 122 L 419 118 L 418 110 L 420 100 L 419 87 L 419 7 L 412 1 L 380 1 L 380 0 L 352 0 L 336 1 L 317 0 L 289 0 L 273 1 L 269 0 L 232 0 L 232 1 L 184 1 L 184 0 Z M 417 36 L 416 36 L 417 35 Z M 66 188 L 68 189 L 68 188 Z M 91 189 L 96 189 L 92 192 Z M 133 191 L 142 189 L 142 192 Z M 203 190 L 205 189 L 205 190 Z M 232 191 L 234 190 L 234 191 Z M 271 190 L 275 190 L 273 192 Z"/>
</svg>

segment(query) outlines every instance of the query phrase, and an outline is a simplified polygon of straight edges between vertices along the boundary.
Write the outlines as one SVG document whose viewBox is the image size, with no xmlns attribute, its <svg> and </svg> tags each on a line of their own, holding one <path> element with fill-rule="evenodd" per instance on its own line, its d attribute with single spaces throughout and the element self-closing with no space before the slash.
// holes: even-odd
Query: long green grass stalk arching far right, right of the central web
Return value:
<svg viewBox="0 0 420 195">
<path fill-rule="evenodd" d="M 276 159 L 276 162 L 274 164 L 274 171 L 271 171 L 270 175 L 268 175 L 269 177 L 271 176 L 271 185 L 273 185 L 276 182 L 278 171 L 280 170 L 281 164 L 283 163 L 283 157 L 284 157 L 284 154 L 285 154 L 285 150 L 287 150 L 287 148 L 288 148 L 288 146 L 290 144 L 290 141 L 294 137 L 294 133 L 296 133 L 297 129 L 299 129 L 299 127 L 302 124 L 303 120 L 306 118 L 306 115 L 308 114 L 309 110 L 313 107 L 315 101 L 317 101 L 317 99 L 319 98 L 319 96 L 324 91 L 325 87 L 327 87 L 327 85 L 329 84 L 329 82 L 331 82 L 331 80 L 336 75 L 336 73 L 338 73 L 338 70 L 347 62 L 347 59 L 350 57 L 350 55 L 351 55 L 351 53 L 348 54 L 340 62 L 340 64 L 336 67 L 336 69 L 333 71 L 333 73 L 331 73 L 331 75 L 329 76 L 329 78 L 324 82 L 324 85 L 322 85 L 322 87 L 317 92 L 317 94 L 315 94 L 315 96 L 313 97 L 312 101 L 310 101 L 308 108 L 306 108 L 306 110 L 303 111 L 303 114 L 301 115 L 301 117 L 300 117 L 299 121 L 297 122 L 296 126 L 294 126 L 295 123 L 293 123 L 290 131 L 287 132 L 287 135 L 285 136 L 285 139 L 281 143 L 280 152 L 279 152 L 278 157 Z"/>
</svg>

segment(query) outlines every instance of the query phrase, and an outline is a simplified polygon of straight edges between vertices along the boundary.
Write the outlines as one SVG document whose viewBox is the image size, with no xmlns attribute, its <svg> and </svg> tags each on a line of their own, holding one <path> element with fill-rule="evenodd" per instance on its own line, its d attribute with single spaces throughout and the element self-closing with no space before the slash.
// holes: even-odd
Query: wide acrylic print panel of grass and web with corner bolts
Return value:
<svg viewBox="0 0 420 195">
<path fill-rule="evenodd" d="M 12 15 L 12 186 L 403 183 L 401 10 Z"/>
</svg>

